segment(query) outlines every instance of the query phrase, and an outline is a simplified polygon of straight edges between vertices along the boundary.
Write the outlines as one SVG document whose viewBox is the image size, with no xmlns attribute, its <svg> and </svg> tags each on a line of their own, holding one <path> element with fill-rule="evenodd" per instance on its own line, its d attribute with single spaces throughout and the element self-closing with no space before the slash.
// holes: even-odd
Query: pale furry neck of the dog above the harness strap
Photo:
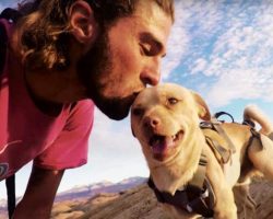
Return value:
<svg viewBox="0 0 273 219">
<path fill-rule="evenodd" d="M 192 180 L 198 170 L 202 148 L 205 145 L 202 131 L 198 129 L 182 145 L 183 148 L 174 162 L 151 169 L 153 181 L 161 192 L 174 195 L 177 189 L 182 188 Z"/>
</svg>

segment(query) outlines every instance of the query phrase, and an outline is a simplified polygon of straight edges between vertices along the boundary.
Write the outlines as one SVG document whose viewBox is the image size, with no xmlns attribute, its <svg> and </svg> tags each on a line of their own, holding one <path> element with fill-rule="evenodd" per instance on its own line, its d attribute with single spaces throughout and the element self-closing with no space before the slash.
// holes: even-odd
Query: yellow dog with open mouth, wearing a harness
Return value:
<svg viewBox="0 0 273 219">
<path fill-rule="evenodd" d="M 193 205 L 173 205 L 171 198 L 183 193 L 192 178 L 199 177 L 197 172 L 202 157 L 205 158 L 202 164 L 205 166 L 204 184 L 214 196 L 211 201 L 213 218 L 237 218 L 235 198 L 246 211 L 254 210 L 248 184 L 257 171 L 273 180 L 273 141 L 266 136 L 273 126 L 253 107 L 246 108 L 245 118 L 260 123 L 261 134 L 253 134 L 247 125 L 219 123 L 217 126 L 225 135 L 221 137 L 215 130 L 200 128 L 200 119 L 211 120 L 211 114 L 199 94 L 167 83 L 147 88 L 138 95 L 131 108 L 132 131 L 142 146 L 157 197 L 159 193 L 163 198 L 170 199 L 163 203 L 171 218 L 200 218 L 200 212 L 192 209 Z M 233 145 L 230 150 L 228 146 L 223 147 L 230 152 L 225 162 L 221 162 L 219 153 L 209 143 L 211 134 L 218 136 L 217 142 L 229 139 Z M 207 198 L 207 189 L 200 194 Z M 188 199 L 189 196 L 187 192 Z M 198 200 L 206 201 L 202 197 Z M 193 198 L 191 203 L 194 201 Z M 253 216 L 253 212 L 246 215 L 247 218 Z"/>
</svg>

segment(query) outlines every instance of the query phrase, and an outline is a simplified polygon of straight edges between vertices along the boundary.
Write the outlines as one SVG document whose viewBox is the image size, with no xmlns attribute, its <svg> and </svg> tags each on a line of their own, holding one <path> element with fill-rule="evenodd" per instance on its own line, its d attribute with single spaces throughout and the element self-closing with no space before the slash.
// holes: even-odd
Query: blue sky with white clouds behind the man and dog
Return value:
<svg viewBox="0 0 273 219">
<path fill-rule="evenodd" d="M 1 2 L 0 9 L 12 1 Z M 226 111 L 237 122 L 248 104 L 273 118 L 272 21 L 271 0 L 177 0 L 162 82 L 198 91 L 212 113 Z M 88 164 L 66 172 L 59 191 L 149 175 L 128 118 L 112 122 L 96 112 L 88 159 Z M 16 176 L 19 195 L 29 169 L 28 164 Z M 3 193 L 0 183 L 0 197 Z"/>
</svg>

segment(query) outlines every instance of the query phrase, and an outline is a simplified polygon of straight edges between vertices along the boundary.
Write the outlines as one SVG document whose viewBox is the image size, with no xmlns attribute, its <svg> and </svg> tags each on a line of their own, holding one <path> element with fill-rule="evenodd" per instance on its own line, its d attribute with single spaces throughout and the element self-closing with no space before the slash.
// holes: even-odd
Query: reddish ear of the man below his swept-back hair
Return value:
<svg viewBox="0 0 273 219">
<path fill-rule="evenodd" d="M 90 44 L 97 33 L 93 10 L 86 1 L 78 0 L 71 4 L 68 16 L 71 34 L 82 44 Z"/>
</svg>

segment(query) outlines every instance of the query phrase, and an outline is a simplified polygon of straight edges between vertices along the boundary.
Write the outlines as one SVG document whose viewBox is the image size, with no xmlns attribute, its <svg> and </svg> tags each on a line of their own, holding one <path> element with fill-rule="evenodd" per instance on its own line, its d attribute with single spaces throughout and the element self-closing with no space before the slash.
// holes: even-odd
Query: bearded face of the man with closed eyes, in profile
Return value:
<svg viewBox="0 0 273 219">
<path fill-rule="evenodd" d="M 103 32 L 80 60 L 80 77 L 87 95 L 114 119 L 122 119 L 136 96 L 159 81 L 171 19 L 154 2 L 140 1 L 132 16 Z"/>
</svg>

